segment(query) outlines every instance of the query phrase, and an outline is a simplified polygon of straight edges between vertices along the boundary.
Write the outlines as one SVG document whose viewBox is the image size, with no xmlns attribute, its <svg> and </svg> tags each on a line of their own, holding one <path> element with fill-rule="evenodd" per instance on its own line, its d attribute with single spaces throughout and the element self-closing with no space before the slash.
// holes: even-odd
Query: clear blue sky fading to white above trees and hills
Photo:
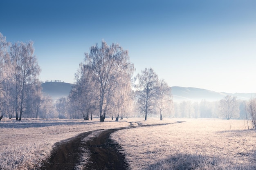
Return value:
<svg viewBox="0 0 256 170">
<path fill-rule="evenodd" d="M 104 39 L 169 86 L 256 92 L 255 0 L 1 0 L 0 32 L 34 41 L 42 81 L 73 83 Z"/>
</svg>

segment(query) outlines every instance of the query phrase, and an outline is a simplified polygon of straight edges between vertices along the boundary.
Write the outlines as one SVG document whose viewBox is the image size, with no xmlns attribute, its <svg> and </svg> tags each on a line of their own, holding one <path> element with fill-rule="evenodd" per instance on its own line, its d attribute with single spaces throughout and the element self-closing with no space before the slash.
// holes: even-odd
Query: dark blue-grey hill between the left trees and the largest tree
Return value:
<svg viewBox="0 0 256 170">
<path fill-rule="evenodd" d="M 52 96 L 54 100 L 60 97 L 67 97 L 73 85 L 64 82 L 46 82 L 41 84 L 43 93 Z"/>
</svg>

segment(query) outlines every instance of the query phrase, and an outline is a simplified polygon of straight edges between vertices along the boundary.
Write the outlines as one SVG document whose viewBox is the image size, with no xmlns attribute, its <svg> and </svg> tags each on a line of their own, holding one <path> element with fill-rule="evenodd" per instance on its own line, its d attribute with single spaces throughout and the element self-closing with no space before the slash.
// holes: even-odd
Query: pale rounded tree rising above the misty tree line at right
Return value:
<svg viewBox="0 0 256 170">
<path fill-rule="evenodd" d="M 239 105 L 235 96 L 227 95 L 220 100 L 220 112 L 227 120 L 238 117 Z"/>
</svg>

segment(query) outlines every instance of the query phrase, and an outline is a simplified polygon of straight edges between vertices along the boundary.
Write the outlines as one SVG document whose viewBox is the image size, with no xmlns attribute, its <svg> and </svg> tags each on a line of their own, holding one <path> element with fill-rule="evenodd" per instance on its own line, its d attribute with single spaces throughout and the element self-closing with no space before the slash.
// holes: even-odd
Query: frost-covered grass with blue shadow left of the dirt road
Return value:
<svg viewBox="0 0 256 170">
<path fill-rule="evenodd" d="M 0 121 L 0 170 L 31 170 L 40 167 L 54 143 L 81 132 L 129 126 L 127 121 L 106 119 L 99 123 L 75 119 L 2 119 Z"/>
</svg>

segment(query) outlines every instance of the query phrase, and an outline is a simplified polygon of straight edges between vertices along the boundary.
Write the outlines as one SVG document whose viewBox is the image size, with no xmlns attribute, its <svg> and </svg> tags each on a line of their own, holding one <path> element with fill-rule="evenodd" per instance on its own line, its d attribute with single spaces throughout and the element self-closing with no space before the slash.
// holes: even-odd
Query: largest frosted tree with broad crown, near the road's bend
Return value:
<svg viewBox="0 0 256 170">
<path fill-rule="evenodd" d="M 108 46 L 104 41 L 101 46 L 91 46 L 89 54 L 85 53 L 84 65 L 92 74 L 91 89 L 97 101 L 101 122 L 111 108 L 112 94 L 119 87 L 119 78 L 127 73 L 132 75 L 133 65 L 129 59 L 128 51 L 123 50 L 119 44 Z"/>
</svg>

